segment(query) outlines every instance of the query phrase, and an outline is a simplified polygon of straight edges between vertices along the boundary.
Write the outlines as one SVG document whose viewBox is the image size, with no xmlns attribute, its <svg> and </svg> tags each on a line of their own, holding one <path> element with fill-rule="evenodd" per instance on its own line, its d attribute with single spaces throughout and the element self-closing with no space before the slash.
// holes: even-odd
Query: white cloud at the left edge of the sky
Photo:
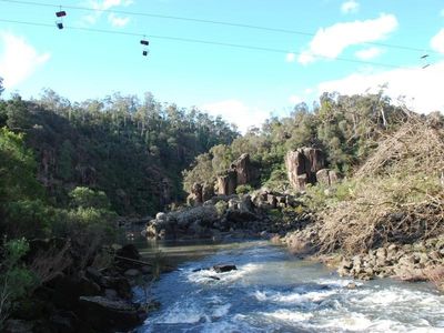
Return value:
<svg viewBox="0 0 444 333">
<path fill-rule="evenodd" d="M 29 79 L 51 58 L 50 53 L 39 53 L 23 38 L 9 32 L 0 32 L 0 77 L 8 89 Z"/>
</svg>

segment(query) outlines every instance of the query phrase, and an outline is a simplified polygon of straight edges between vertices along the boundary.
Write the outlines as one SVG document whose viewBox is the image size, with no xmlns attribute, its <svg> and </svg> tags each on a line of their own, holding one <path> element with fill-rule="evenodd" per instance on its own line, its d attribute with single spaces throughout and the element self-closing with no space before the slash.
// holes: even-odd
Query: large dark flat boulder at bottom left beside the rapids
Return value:
<svg viewBox="0 0 444 333">
<path fill-rule="evenodd" d="M 103 296 L 82 296 L 82 317 L 99 332 L 128 331 L 143 321 L 143 314 L 131 303 Z"/>
</svg>

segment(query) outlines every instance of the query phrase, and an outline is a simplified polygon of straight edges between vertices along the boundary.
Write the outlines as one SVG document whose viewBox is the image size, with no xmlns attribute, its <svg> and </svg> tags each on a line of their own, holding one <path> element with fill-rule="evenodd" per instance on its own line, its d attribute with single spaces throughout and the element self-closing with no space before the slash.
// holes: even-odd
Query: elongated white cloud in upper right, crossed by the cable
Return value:
<svg viewBox="0 0 444 333">
<path fill-rule="evenodd" d="M 396 17 L 384 13 L 373 20 L 321 28 L 310 42 L 309 49 L 302 52 L 297 60 L 302 64 L 307 64 L 315 61 L 316 57 L 334 59 L 350 46 L 386 39 L 396 28 Z"/>
</svg>

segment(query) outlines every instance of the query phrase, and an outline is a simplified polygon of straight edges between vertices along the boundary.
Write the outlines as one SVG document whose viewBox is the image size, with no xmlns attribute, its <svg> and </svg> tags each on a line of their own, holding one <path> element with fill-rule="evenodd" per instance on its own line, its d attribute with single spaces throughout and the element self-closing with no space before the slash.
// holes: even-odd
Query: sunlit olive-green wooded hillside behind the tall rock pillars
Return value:
<svg viewBox="0 0 444 333">
<path fill-rule="evenodd" d="M 194 182 L 214 183 L 218 173 L 242 153 L 249 153 L 260 169 L 256 186 L 289 189 L 284 157 L 302 147 L 321 149 L 331 169 L 349 175 L 376 147 L 376 141 L 397 129 L 408 113 L 392 104 L 383 91 L 366 95 L 324 93 L 314 110 L 301 103 L 290 117 L 269 119 L 262 129 L 251 129 L 232 144 L 213 147 L 198 157 L 193 168 L 184 172 L 185 190 L 190 192 Z"/>
</svg>

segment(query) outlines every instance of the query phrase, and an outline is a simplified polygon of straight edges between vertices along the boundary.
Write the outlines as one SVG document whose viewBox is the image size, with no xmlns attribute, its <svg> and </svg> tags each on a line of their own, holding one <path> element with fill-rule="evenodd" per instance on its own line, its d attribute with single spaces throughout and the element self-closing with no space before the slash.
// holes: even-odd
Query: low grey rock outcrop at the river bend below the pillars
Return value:
<svg viewBox="0 0 444 333">
<path fill-rule="evenodd" d="M 158 213 L 147 224 L 142 235 L 149 239 L 218 238 L 221 233 L 245 231 L 253 234 L 300 228 L 294 220 L 283 221 L 281 212 L 285 208 L 297 208 L 301 202 L 290 194 L 259 190 L 252 195 L 215 195 L 201 205 L 184 208 L 169 213 Z M 275 218 L 270 216 L 273 210 Z M 289 214 L 289 212 L 286 212 Z M 304 222 L 305 223 L 305 222 Z"/>
</svg>

